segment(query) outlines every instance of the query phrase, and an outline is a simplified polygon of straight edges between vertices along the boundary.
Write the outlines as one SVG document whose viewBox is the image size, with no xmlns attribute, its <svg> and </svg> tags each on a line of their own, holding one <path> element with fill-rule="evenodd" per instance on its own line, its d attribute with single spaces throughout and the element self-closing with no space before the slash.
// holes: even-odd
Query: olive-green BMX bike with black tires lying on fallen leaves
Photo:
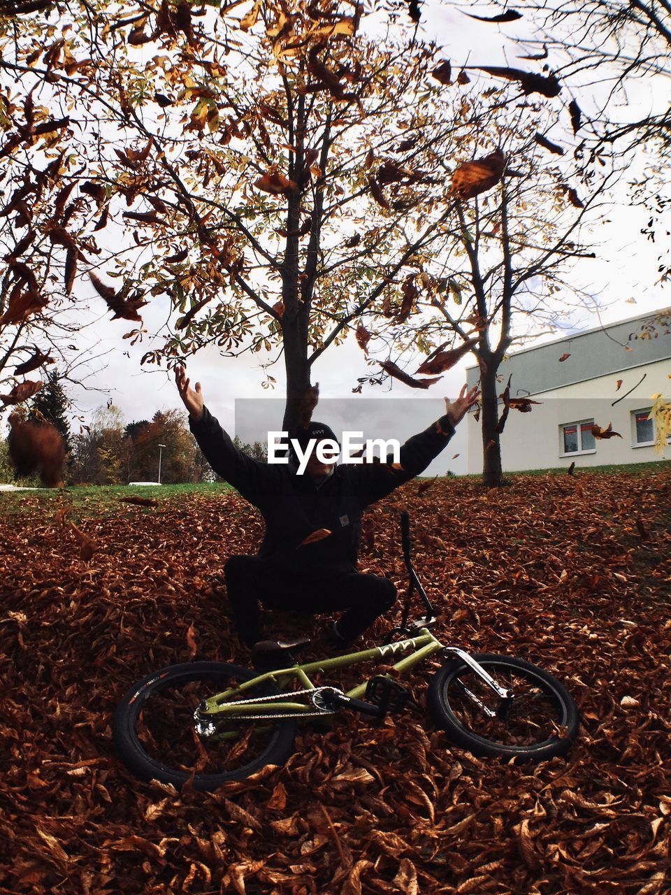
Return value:
<svg viewBox="0 0 671 895">
<path fill-rule="evenodd" d="M 299 723 L 338 712 L 361 712 L 378 720 L 402 712 L 410 693 L 399 679 L 429 659 L 444 662 L 429 680 L 428 709 L 447 738 L 472 754 L 539 762 L 564 754 L 577 736 L 578 712 L 556 678 L 529 661 L 495 653 L 469 654 L 441 643 L 431 632 L 437 618 L 412 567 L 410 522 L 401 514 L 403 557 L 410 576 L 403 618 L 387 642 L 299 664 L 293 658 L 308 639 L 257 644 L 277 668 L 260 672 L 214 661 L 171 665 L 134 684 L 113 718 L 115 748 L 141 780 L 179 788 L 212 790 L 243 780 L 293 753 Z M 425 615 L 409 622 L 412 593 Z M 398 635 L 398 639 L 396 639 Z M 258 649 L 259 648 L 259 649 Z M 386 662 L 376 674 L 346 692 L 315 683 L 337 669 Z M 391 662 L 391 668 L 388 665 Z"/>
</svg>

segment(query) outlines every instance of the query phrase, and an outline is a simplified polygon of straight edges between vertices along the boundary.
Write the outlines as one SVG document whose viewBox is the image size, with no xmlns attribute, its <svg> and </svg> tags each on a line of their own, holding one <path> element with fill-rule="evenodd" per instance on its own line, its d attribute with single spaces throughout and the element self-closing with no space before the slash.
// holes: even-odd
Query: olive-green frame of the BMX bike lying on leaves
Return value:
<svg viewBox="0 0 671 895">
<path fill-rule="evenodd" d="M 393 665 L 396 671 L 403 674 L 421 661 L 429 659 L 430 656 L 435 655 L 437 652 L 443 652 L 445 649 L 446 647 L 431 634 L 429 628 L 423 627 L 420 628 L 418 636 L 409 637 L 406 640 L 375 646 L 370 650 L 361 652 L 349 652 L 344 656 L 335 656 L 333 659 L 321 659 L 316 662 L 308 662 L 305 665 L 293 665 L 290 668 L 274 669 L 260 674 L 257 678 L 246 680 L 239 686 L 231 687 L 204 700 L 199 710 L 200 718 L 202 720 L 207 718 L 214 720 L 218 717 L 219 720 L 234 720 L 236 715 L 243 714 L 249 719 L 252 705 L 250 703 L 239 704 L 232 702 L 232 700 L 243 698 L 249 690 L 259 686 L 259 684 L 272 682 L 278 685 L 282 691 L 285 691 L 295 681 L 305 690 L 314 690 L 316 687 L 309 678 L 309 675 L 314 672 L 349 668 L 361 662 L 388 659 L 394 657 L 397 652 L 403 653 L 412 650 L 411 655 L 405 656 Z M 353 687 L 352 690 L 348 690 L 345 695 L 350 696 L 352 699 L 361 699 L 366 693 L 367 684 L 368 682 L 359 684 Z M 313 714 L 314 706 L 308 703 L 292 702 L 289 693 L 286 701 L 280 701 L 275 698 L 268 702 L 263 702 L 262 699 L 254 699 L 253 712 L 258 712 L 259 718 L 264 717 L 265 719 L 276 713 L 285 716 L 289 713 L 295 715 L 298 719 L 307 712 Z"/>
</svg>

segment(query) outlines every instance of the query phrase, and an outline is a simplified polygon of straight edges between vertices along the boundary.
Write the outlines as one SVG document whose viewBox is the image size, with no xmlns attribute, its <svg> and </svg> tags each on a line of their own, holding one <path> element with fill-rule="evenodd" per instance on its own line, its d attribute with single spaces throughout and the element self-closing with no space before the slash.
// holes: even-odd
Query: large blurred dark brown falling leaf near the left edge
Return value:
<svg viewBox="0 0 671 895">
<path fill-rule="evenodd" d="M 18 413 L 12 413 L 9 423 L 7 445 L 17 473 L 38 473 L 48 488 L 62 485 L 65 447 L 61 433 L 50 422 L 23 422 Z"/>
</svg>

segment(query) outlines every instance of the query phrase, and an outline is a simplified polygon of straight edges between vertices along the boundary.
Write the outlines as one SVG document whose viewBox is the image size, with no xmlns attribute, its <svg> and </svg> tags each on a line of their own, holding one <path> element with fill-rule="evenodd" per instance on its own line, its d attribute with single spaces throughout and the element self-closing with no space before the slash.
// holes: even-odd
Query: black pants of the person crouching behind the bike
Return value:
<svg viewBox="0 0 671 895">
<path fill-rule="evenodd" d="M 259 557 L 231 557 L 225 563 L 224 577 L 235 627 L 248 646 L 262 639 L 259 602 L 269 609 L 310 615 L 344 609 L 338 619 L 338 634 L 349 642 L 390 609 L 396 599 L 395 585 L 388 578 L 352 572 L 315 579 L 278 571 Z"/>
</svg>

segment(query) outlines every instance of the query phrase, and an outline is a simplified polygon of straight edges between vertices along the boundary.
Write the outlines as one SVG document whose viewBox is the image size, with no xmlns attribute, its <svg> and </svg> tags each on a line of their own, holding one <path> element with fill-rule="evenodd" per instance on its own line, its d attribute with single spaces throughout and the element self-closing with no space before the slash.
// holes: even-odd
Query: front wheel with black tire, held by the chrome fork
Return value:
<svg viewBox="0 0 671 895">
<path fill-rule="evenodd" d="M 474 755 L 514 756 L 541 762 L 564 754 L 578 734 L 573 697 L 547 671 L 512 656 L 476 653 L 472 657 L 500 686 L 514 692 L 504 701 L 462 659 L 454 658 L 429 683 L 429 712 L 455 746 Z M 488 709 L 490 718 L 465 694 L 468 688 Z"/>
</svg>

